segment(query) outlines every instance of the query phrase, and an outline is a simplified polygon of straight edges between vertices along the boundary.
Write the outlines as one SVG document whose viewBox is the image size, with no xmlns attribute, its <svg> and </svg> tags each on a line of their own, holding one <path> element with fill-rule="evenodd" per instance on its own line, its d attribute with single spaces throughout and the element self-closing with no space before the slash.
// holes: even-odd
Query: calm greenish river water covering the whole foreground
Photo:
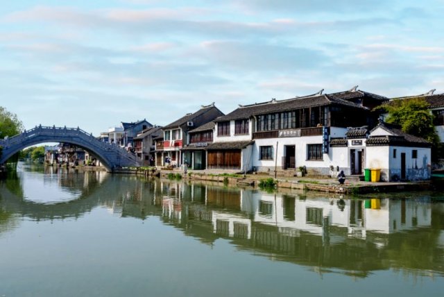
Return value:
<svg viewBox="0 0 444 297">
<path fill-rule="evenodd" d="M 0 296 L 441 296 L 443 197 L 19 163 L 0 181 Z"/>
</svg>

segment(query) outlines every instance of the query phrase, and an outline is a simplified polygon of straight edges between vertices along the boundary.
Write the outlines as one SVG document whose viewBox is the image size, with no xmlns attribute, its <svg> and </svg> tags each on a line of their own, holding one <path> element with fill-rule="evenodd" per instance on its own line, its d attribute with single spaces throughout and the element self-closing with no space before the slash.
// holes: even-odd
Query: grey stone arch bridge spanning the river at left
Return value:
<svg viewBox="0 0 444 297">
<path fill-rule="evenodd" d="M 117 167 L 138 166 L 137 157 L 117 144 L 101 142 L 80 128 L 59 128 L 36 126 L 25 130 L 19 135 L 0 139 L 2 152 L 0 164 L 4 164 L 12 155 L 22 149 L 44 142 L 65 142 L 75 144 L 96 155 L 107 171 L 114 171 Z"/>
</svg>

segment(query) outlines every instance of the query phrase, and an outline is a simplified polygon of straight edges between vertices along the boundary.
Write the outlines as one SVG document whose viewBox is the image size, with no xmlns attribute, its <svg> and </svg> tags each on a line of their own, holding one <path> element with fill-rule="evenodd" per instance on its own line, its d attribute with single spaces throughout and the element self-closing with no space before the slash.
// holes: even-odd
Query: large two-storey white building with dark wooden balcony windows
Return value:
<svg viewBox="0 0 444 297">
<path fill-rule="evenodd" d="M 318 92 L 283 101 L 239 105 L 215 120 L 214 143 L 225 143 L 228 148 L 220 148 L 214 154 L 221 156 L 219 160 L 226 155 L 228 160 L 236 159 L 237 169 L 242 171 L 296 171 L 305 167 L 316 175 L 327 176 L 340 170 L 350 174 L 349 153 L 341 148 L 331 150 L 330 140 L 344 138 L 347 127 L 375 125 L 377 114 L 371 109 L 386 101 L 386 97 L 354 87 L 334 94 Z M 239 149 L 241 142 L 244 147 Z M 210 156 L 208 165 L 227 167 L 226 162 L 211 164 Z M 355 174 L 363 170 L 361 166 Z"/>
</svg>

